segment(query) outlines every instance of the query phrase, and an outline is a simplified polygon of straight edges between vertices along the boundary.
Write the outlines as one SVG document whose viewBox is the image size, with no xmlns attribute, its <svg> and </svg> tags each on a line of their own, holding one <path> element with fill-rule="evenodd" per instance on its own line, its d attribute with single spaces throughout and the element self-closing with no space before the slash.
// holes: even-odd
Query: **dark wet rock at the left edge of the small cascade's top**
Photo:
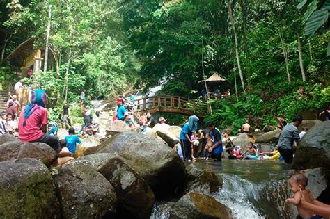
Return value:
<svg viewBox="0 0 330 219">
<path fill-rule="evenodd" d="M 194 191 L 210 195 L 217 193 L 223 186 L 222 179 L 219 179 L 214 172 L 203 170 L 194 164 L 188 165 L 186 170 L 188 175 L 186 193 Z"/>
</svg>

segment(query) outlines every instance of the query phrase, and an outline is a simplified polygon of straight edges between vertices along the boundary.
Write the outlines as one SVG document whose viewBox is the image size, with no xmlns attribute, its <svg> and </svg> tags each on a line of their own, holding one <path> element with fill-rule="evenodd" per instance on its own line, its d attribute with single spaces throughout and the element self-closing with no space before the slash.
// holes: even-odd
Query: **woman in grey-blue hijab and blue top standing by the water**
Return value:
<svg viewBox="0 0 330 219">
<path fill-rule="evenodd" d="M 199 119 L 196 115 L 191 115 L 188 122 L 184 124 L 180 132 L 180 143 L 183 147 L 182 152 L 185 161 L 191 162 L 193 160 L 191 156 L 191 143 L 193 143 L 191 140 L 191 133 L 196 133 L 198 128 L 198 120 Z"/>
</svg>

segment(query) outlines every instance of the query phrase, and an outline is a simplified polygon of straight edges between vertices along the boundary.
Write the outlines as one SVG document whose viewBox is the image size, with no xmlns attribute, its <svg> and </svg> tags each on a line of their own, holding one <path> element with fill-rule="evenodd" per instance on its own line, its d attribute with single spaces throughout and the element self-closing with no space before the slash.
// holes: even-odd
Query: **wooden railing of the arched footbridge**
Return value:
<svg viewBox="0 0 330 219">
<path fill-rule="evenodd" d="M 136 111 L 148 111 L 152 108 L 173 108 L 194 113 L 209 113 L 207 104 L 197 99 L 179 96 L 157 95 L 135 100 Z"/>
</svg>

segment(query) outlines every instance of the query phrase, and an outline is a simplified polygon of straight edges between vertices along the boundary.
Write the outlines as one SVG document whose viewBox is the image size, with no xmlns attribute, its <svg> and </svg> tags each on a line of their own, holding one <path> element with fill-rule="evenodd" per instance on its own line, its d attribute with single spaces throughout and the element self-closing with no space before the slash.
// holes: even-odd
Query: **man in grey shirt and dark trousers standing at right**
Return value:
<svg viewBox="0 0 330 219">
<path fill-rule="evenodd" d="M 298 144 L 300 141 L 298 128 L 303 118 L 297 115 L 292 120 L 292 123 L 287 124 L 281 132 L 280 139 L 278 140 L 278 152 L 280 152 L 285 163 L 292 163 L 293 161 L 293 143 Z"/>
</svg>

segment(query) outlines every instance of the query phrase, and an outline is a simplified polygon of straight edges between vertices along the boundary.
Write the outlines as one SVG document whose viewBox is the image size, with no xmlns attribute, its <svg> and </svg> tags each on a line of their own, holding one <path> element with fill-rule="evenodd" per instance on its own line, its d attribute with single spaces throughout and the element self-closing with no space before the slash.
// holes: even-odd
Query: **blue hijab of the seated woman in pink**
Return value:
<svg viewBox="0 0 330 219">
<path fill-rule="evenodd" d="M 47 104 L 47 95 L 45 90 L 35 90 L 32 94 L 31 103 L 24 109 L 24 122 L 23 126 L 26 126 L 26 120 L 32 115 L 38 108 L 45 108 Z"/>
</svg>

